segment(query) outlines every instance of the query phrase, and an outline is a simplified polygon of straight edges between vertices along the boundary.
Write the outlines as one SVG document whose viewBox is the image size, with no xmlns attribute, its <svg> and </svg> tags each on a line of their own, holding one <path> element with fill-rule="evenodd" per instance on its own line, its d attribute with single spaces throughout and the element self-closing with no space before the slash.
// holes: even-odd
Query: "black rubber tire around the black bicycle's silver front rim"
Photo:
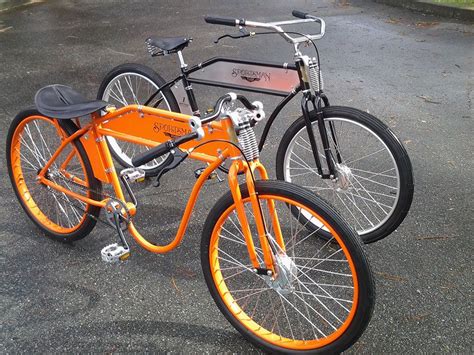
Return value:
<svg viewBox="0 0 474 355">
<path fill-rule="evenodd" d="M 363 127 L 364 130 L 372 131 L 372 134 L 377 136 L 383 142 L 383 144 L 385 144 L 386 148 L 388 149 L 391 156 L 393 157 L 392 160 L 396 164 L 396 168 L 398 170 L 398 181 L 399 181 L 399 188 L 397 192 L 398 200 L 396 201 L 396 203 L 393 204 L 393 206 L 391 206 L 392 208 L 391 212 L 387 214 L 387 217 L 382 219 L 381 222 L 383 223 L 379 223 L 380 225 L 376 225 L 377 227 L 376 229 L 370 230 L 370 228 L 368 228 L 364 230 L 362 226 L 358 226 L 356 224 L 355 216 L 357 215 L 357 213 L 349 214 L 350 211 L 343 210 L 342 204 L 340 204 L 338 208 L 342 216 L 347 221 L 349 221 L 349 223 L 354 229 L 358 231 L 364 243 L 372 243 L 377 240 L 380 240 L 388 236 L 400 225 L 400 223 L 406 217 L 411 206 L 411 202 L 413 199 L 414 185 L 413 185 L 412 166 L 411 166 L 411 162 L 408 157 L 408 154 L 404 146 L 399 141 L 399 139 L 395 136 L 392 130 L 389 127 L 387 127 L 383 122 L 381 122 L 379 119 L 377 119 L 376 117 L 366 112 L 363 112 L 354 108 L 349 108 L 349 107 L 331 106 L 331 107 L 325 107 L 323 109 L 323 115 L 324 115 L 323 117 L 325 119 L 326 125 L 327 125 L 327 122 L 331 120 L 340 120 L 340 121 L 344 120 L 344 122 L 351 122 L 351 124 L 353 124 L 354 127 L 358 125 L 359 127 Z M 317 129 L 317 121 L 316 121 L 314 112 L 311 112 L 310 117 L 313 122 L 313 127 L 315 127 L 314 129 L 315 138 L 319 144 L 319 141 L 321 139 L 319 136 L 319 131 Z M 288 128 L 288 130 L 283 135 L 283 138 L 278 147 L 278 152 L 277 152 L 277 157 L 276 157 L 276 175 L 279 180 L 289 180 L 293 183 L 305 185 L 305 187 L 311 187 L 311 186 L 307 186 L 309 184 L 304 184 L 304 183 L 301 183 L 301 181 L 298 181 L 298 178 L 291 179 L 285 176 L 285 157 L 287 157 L 288 151 L 291 149 L 290 148 L 291 142 L 293 141 L 293 139 L 295 138 L 297 134 L 302 134 L 301 133 L 303 132 L 302 130 L 305 130 L 304 134 L 307 137 L 307 132 L 306 132 L 305 127 L 306 126 L 305 126 L 304 118 L 299 117 L 295 122 L 293 122 L 293 124 Z M 328 135 L 330 135 L 329 131 L 328 131 Z M 331 140 L 331 137 L 330 137 L 330 140 Z M 357 142 L 357 144 L 359 143 L 361 146 L 366 144 L 366 142 L 364 141 Z M 343 149 L 344 147 L 342 146 L 341 150 L 343 151 Z M 321 160 L 324 167 L 325 159 L 321 153 L 322 149 L 319 152 L 320 152 Z M 315 167 L 314 159 L 312 159 L 312 157 L 308 158 L 308 160 L 305 160 L 305 162 L 306 163 L 310 162 L 310 164 L 313 167 Z M 319 179 L 319 177 L 316 176 L 316 174 L 311 175 L 311 177 L 315 177 Z M 328 182 L 328 180 L 326 181 Z M 331 204 L 333 204 L 336 207 L 338 206 L 338 200 L 336 199 L 336 194 L 339 194 L 339 192 L 337 193 L 331 192 L 330 189 L 327 189 L 327 191 L 322 191 L 322 190 L 317 191 L 316 187 L 314 189 L 315 189 L 314 192 L 318 194 L 322 194 L 322 197 L 324 197 L 326 200 L 329 200 Z M 334 201 L 331 200 L 329 195 L 325 195 L 324 193 L 333 193 Z M 339 200 L 341 200 L 340 197 L 338 198 Z M 324 235 L 324 232 L 322 232 L 322 235 Z"/>
</svg>

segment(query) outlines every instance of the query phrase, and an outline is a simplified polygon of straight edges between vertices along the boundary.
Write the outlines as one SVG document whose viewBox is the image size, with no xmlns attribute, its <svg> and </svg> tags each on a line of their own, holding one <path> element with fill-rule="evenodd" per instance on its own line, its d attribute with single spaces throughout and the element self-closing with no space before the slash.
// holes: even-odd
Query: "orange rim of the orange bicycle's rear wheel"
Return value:
<svg viewBox="0 0 474 355">
<path fill-rule="evenodd" d="M 24 120 L 22 120 L 20 124 L 16 127 L 15 132 L 13 133 L 11 151 L 10 151 L 13 181 L 15 184 L 15 188 L 18 192 L 18 196 L 21 199 L 23 205 L 28 209 L 30 216 L 32 216 L 39 224 L 41 224 L 44 228 L 54 233 L 70 234 L 80 228 L 87 214 L 83 213 L 82 217 L 77 222 L 77 224 L 72 227 L 65 227 L 58 223 L 55 223 L 38 206 L 37 202 L 32 196 L 32 193 L 30 192 L 28 183 L 25 181 L 25 177 L 23 174 L 23 167 L 22 167 L 21 138 L 22 138 L 26 125 L 34 120 L 47 122 L 56 131 L 56 128 L 54 127 L 54 124 L 51 121 L 51 119 L 43 117 L 43 116 L 29 116 L 25 118 Z M 39 128 L 38 128 L 38 132 L 39 132 Z M 75 147 L 75 145 L 70 144 L 70 146 L 74 150 L 75 152 L 74 155 L 77 157 L 77 160 L 81 164 L 82 171 L 84 172 L 84 179 L 85 179 L 84 183 L 86 186 L 89 186 L 89 181 L 86 174 L 86 168 L 85 168 L 84 162 L 82 161 L 81 156 L 79 152 L 77 151 L 77 148 Z M 54 150 L 56 150 L 57 148 L 58 147 L 55 147 Z M 54 151 L 51 151 L 51 152 L 54 153 Z M 51 194 L 53 193 L 54 192 L 51 192 Z M 88 206 L 86 206 L 84 209 L 87 210 L 87 208 Z"/>
</svg>

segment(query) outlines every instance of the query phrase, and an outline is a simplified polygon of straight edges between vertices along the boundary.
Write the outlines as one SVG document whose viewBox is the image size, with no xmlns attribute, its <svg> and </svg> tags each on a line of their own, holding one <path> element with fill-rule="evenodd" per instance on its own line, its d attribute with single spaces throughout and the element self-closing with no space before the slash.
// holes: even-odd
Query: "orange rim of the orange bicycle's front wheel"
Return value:
<svg viewBox="0 0 474 355">
<path fill-rule="evenodd" d="M 260 200 L 274 200 L 276 201 L 281 201 L 290 205 L 293 205 L 295 207 L 302 208 L 304 210 L 308 209 L 303 206 L 302 204 L 293 201 L 291 199 L 288 199 L 286 197 L 282 196 L 275 196 L 275 195 L 259 195 Z M 246 198 L 242 200 L 243 203 L 249 202 L 250 198 Z M 243 310 L 234 296 L 232 295 L 232 291 L 228 289 L 227 283 L 225 281 L 225 277 L 222 274 L 221 266 L 220 266 L 220 261 L 219 261 L 219 241 L 220 241 L 220 233 L 221 229 L 227 220 L 229 214 L 235 210 L 235 205 L 231 205 L 219 218 L 217 221 L 213 232 L 211 236 L 211 241 L 209 245 L 210 253 L 209 253 L 209 262 L 210 262 L 210 268 L 211 268 L 211 275 L 214 281 L 214 284 L 216 285 L 217 291 L 220 295 L 220 298 L 223 300 L 225 303 L 227 309 L 230 311 L 230 313 L 233 315 L 233 317 L 238 320 L 246 329 L 251 331 L 254 335 L 257 337 L 263 339 L 264 341 L 271 343 L 273 345 L 287 348 L 287 349 L 292 349 L 292 350 L 311 350 L 311 349 L 317 349 L 321 348 L 325 345 L 328 345 L 334 341 L 336 341 L 350 326 L 352 320 L 354 319 L 356 310 L 357 310 L 357 305 L 358 305 L 358 298 L 359 298 L 359 288 L 358 288 L 358 279 L 357 279 L 357 273 L 355 269 L 354 262 L 351 258 L 351 255 L 349 251 L 347 250 L 346 245 L 343 243 L 341 237 L 334 231 L 334 229 L 322 218 L 320 217 L 317 213 L 314 211 L 311 211 L 311 214 L 317 218 L 323 225 L 326 227 L 334 237 L 334 239 L 337 241 L 339 244 L 340 248 L 342 249 L 345 258 L 347 259 L 351 276 L 352 276 L 352 284 L 353 284 L 353 296 L 352 296 L 352 306 L 350 309 L 349 314 L 345 318 L 345 321 L 331 334 L 320 337 L 317 339 L 295 339 L 295 338 L 289 338 L 286 336 L 282 336 L 279 334 L 275 334 L 273 330 L 269 330 L 265 328 L 262 324 L 258 324 L 255 322 L 251 316 L 247 314 L 245 310 Z M 309 211 L 308 211 L 309 212 Z M 240 290 L 239 290 L 240 291 Z M 276 293 L 276 291 L 274 291 Z M 258 303 L 258 301 L 257 301 Z M 284 307 L 283 307 L 284 308 Z M 255 312 L 255 310 L 254 310 Z M 286 312 L 286 311 L 285 311 Z M 283 315 L 282 315 L 283 317 Z"/>
</svg>

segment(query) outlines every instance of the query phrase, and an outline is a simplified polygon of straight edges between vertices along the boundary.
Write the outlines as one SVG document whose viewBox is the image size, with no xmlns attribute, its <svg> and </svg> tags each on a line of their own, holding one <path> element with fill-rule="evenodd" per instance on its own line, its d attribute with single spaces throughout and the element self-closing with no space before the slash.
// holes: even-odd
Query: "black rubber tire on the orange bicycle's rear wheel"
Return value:
<svg viewBox="0 0 474 355">
<path fill-rule="evenodd" d="M 42 223 L 31 211 L 31 209 L 26 205 L 25 201 L 21 198 L 20 196 L 20 191 L 18 190 L 17 182 L 14 177 L 13 173 L 13 165 L 12 165 L 12 141 L 14 139 L 14 134 L 15 131 L 20 125 L 20 123 L 31 117 L 31 116 L 42 116 L 36 109 L 27 109 L 24 111 L 21 111 L 14 120 L 12 121 L 10 128 L 8 130 L 8 135 L 7 135 L 7 144 L 6 144 L 6 158 L 7 158 L 7 167 L 8 167 L 8 174 L 10 176 L 10 181 L 12 183 L 12 188 L 15 191 L 15 195 L 18 198 L 18 201 L 20 202 L 21 207 L 23 210 L 26 212 L 28 217 L 50 238 L 60 241 L 60 242 L 74 242 L 79 239 L 82 239 L 86 237 L 94 228 L 96 224 L 96 218 L 99 216 L 100 213 L 100 207 L 93 206 L 90 204 L 84 204 L 83 209 L 84 211 L 80 211 L 77 207 L 70 207 L 70 208 L 75 208 L 78 213 L 83 213 L 83 219 L 78 223 L 77 229 L 70 233 L 60 233 L 58 231 L 54 231 L 53 229 L 49 228 L 47 225 Z M 51 121 L 51 119 L 48 119 Z M 68 134 L 71 135 L 76 130 L 78 129 L 77 126 L 70 120 L 62 120 L 60 122 L 60 125 L 62 129 Z M 85 175 L 87 176 L 87 181 L 89 182 L 89 197 L 92 199 L 100 200 L 101 199 L 101 191 L 102 191 L 102 184 L 99 180 L 97 180 L 94 177 L 92 167 L 90 164 L 90 161 L 87 157 L 86 151 L 84 147 L 82 146 L 81 142 L 79 140 L 75 140 L 73 143 L 74 147 L 76 148 L 80 159 L 83 162 L 83 167 L 85 169 Z M 21 164 L 21 163 L 20 163 Z M 22 173 L 22 178 L 24 177 L 24 174 Z M 28 188 L 27 191 L 30 191 L 31 188 Z M 35 196 L 31 194 L 30 196 L 33 197 L 33 200 Z M 77 203 L 77 200 L 73 199 L 73 202 Z M 72 205 L 71 205 L 72 206 Z M 40 210 L 40 207 L 37 208 Z M 67 209 L 66 209 L 67 210 Z M 43 211 L 41 211 L 43 213 Z M 50 212 L 50 211 L 49 211 Z M 47 216 L 50 218 L 49 216 Z"/>
</svg>

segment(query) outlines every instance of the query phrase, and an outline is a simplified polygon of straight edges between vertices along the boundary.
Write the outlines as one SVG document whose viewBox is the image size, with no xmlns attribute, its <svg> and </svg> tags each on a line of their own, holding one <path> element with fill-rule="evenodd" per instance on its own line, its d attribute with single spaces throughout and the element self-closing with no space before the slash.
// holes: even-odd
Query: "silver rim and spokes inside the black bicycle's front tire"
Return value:
<svg viewBox="0 0 474 355">
<path fill-rule="evenodd" d="M 322 179 L 312 166 L 313 152 L 303 127 L 288 145 L 283 161 L 285 180 L 330 200 L 358 233 L 370 233 L 393 215 L 399 202 L 400 172 L 394 155 L 378 135 L 355 120 L 331 117 L 325 122 L 332 154 L 335 157 L 334 134 L 341 157 L 336 164 L 337 179 Z M 317 124 L 313 126 L 318 138 Z M 317 144 L 323 171 L 327 171 L 322 144 Z"/>
</svg>

